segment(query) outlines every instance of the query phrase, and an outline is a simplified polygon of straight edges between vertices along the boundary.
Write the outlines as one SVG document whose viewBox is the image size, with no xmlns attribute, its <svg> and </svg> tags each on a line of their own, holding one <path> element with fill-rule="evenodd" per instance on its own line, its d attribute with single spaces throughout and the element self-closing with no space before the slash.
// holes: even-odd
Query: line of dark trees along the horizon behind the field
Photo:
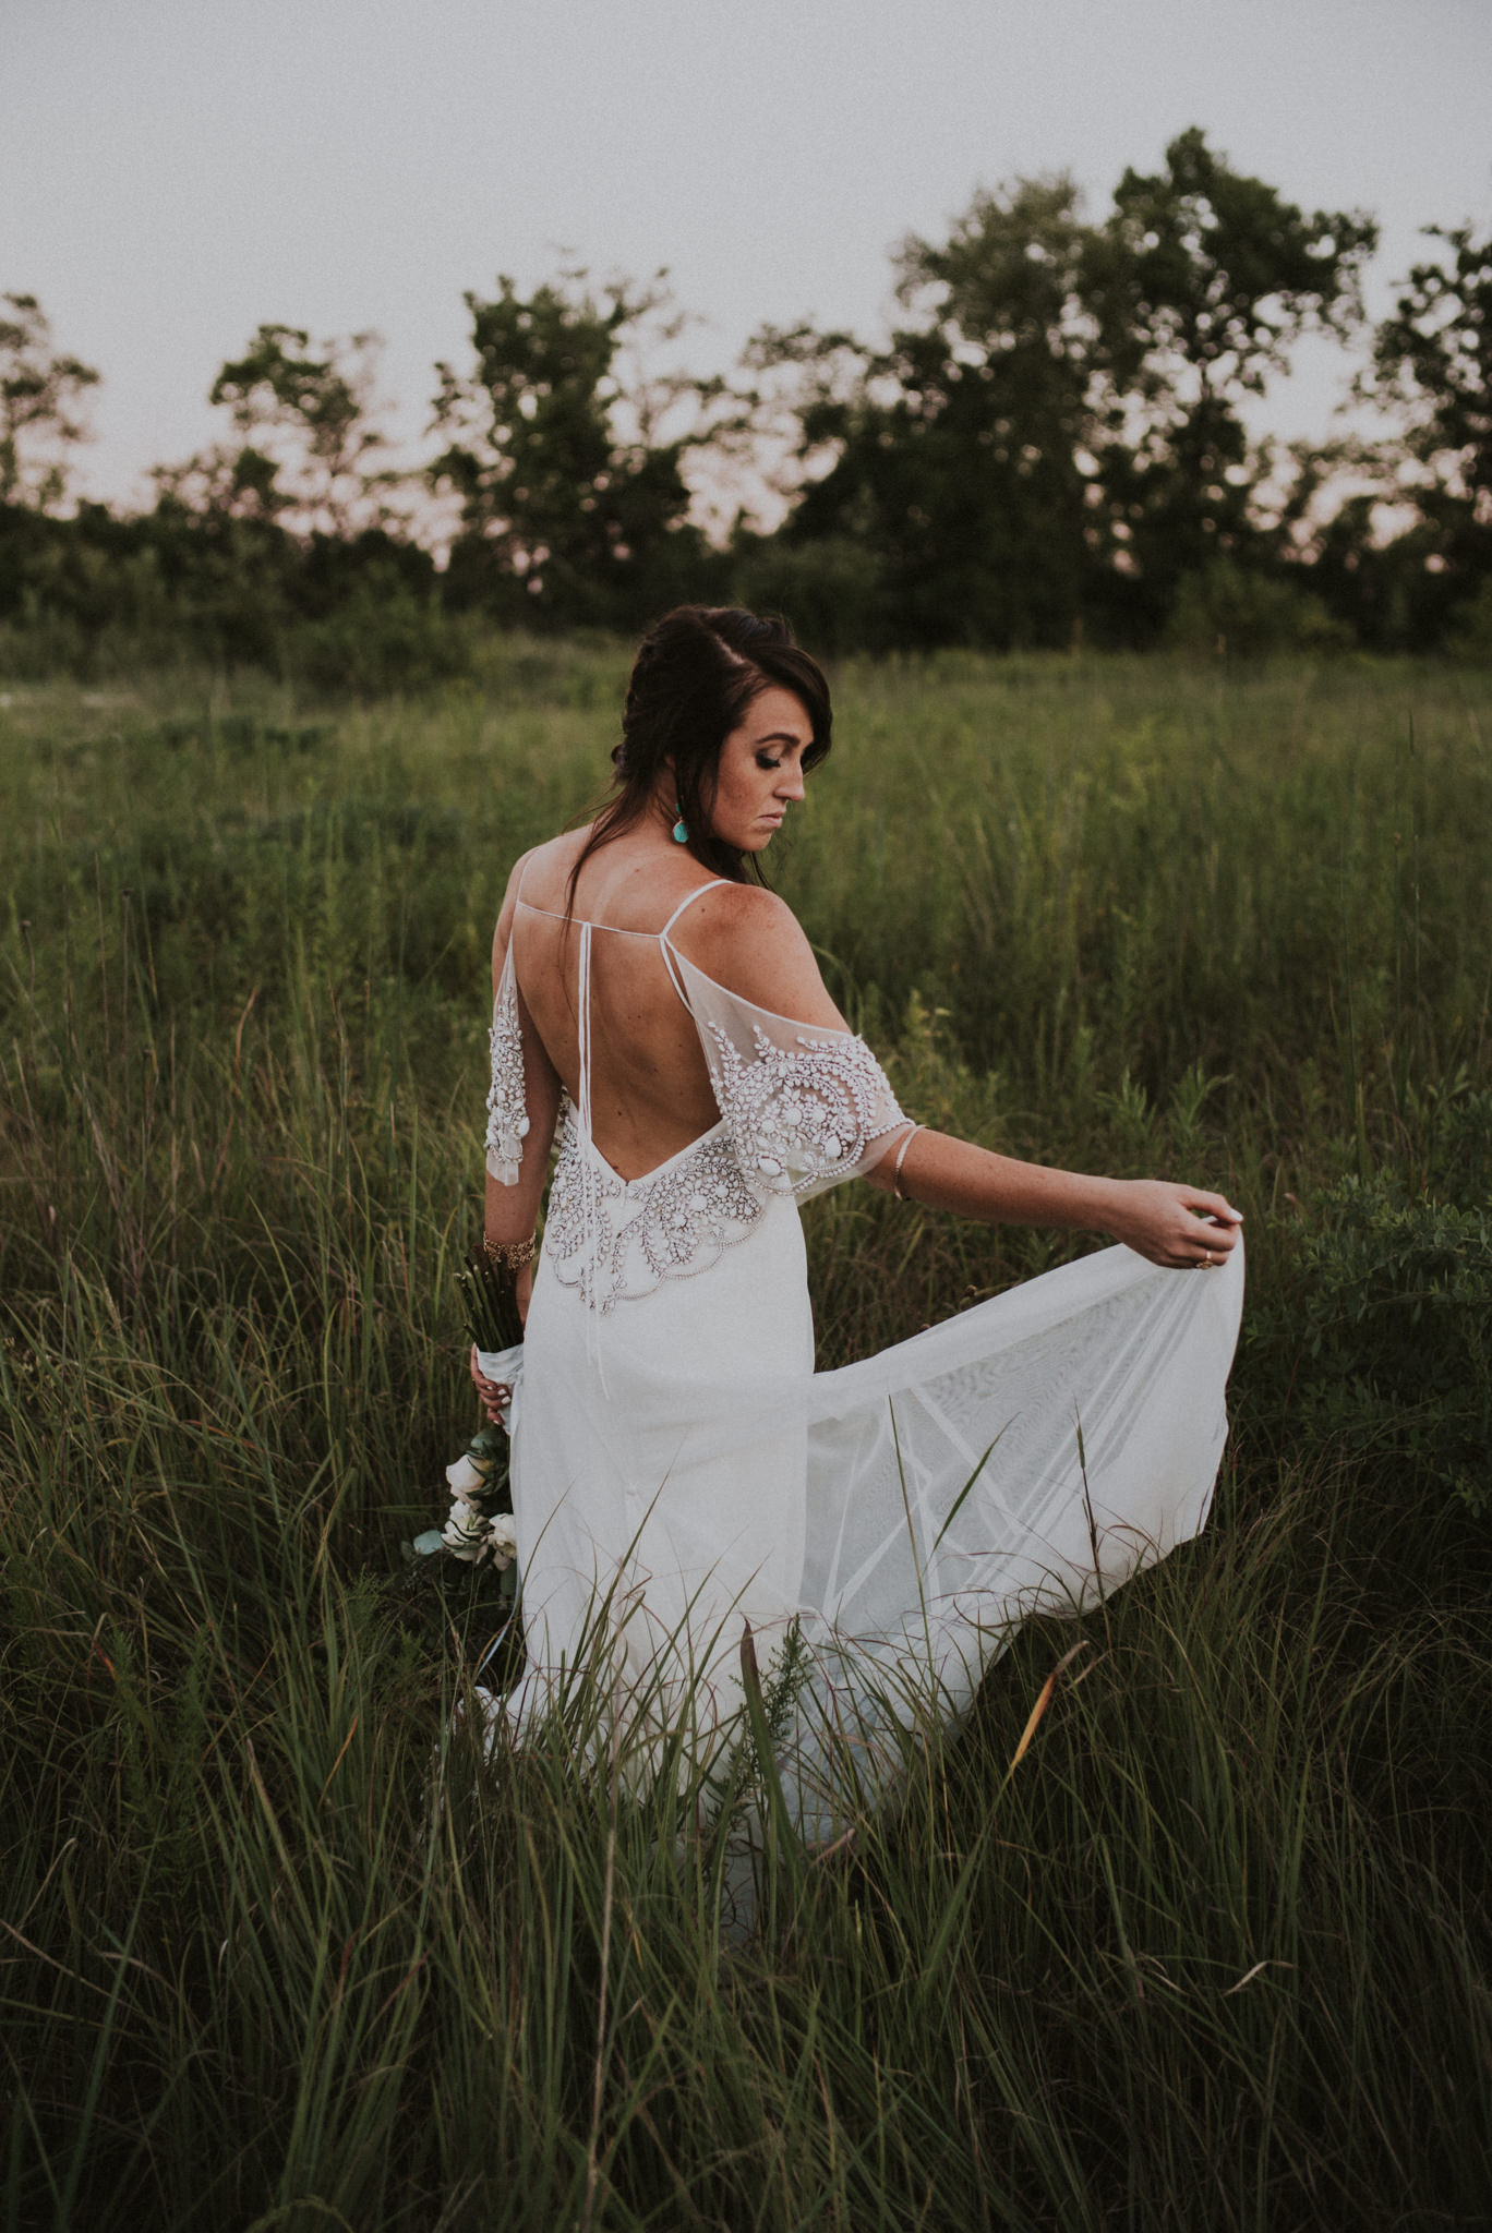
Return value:
<svg viewBox="0 0 1492 2233">
<path fill-rule="evenodd" d="M 0 317 L 0 659 L 205 657 L 384 686 L 498 625 L 634 630 L 683 596 L 786 610 L 826 650 L 1184 643 L 1492 654 L 1492 232 L 1427 228 L 1369 326 L 1378 228 L 1302 210 L 1199 130 L 1083 214 L 981 192 L 896 252 L 880 342 L 762 328 L 733 377 L 657 371 L 661 286 L 467 295 L 431 456 L 398 471 L 375 337 L 259 326 L 223 438 L 154 500 L 69 507 L 98 375 L 40 304 Z M 1284 444 L 1251 397 L 1307 335 L 1385 433 Z M 771 460 L 782 516 L 697 489 Z"/>
</svg>

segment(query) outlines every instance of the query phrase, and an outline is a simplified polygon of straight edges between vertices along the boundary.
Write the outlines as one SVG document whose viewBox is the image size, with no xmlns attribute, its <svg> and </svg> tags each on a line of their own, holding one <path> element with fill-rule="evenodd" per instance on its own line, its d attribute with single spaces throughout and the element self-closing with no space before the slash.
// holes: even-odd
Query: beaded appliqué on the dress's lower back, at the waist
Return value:
<svg viewBox="0 0 1492 2233">
<path fill-rule="evenodd" d="M 706 1134 L 677 1163 L 625 1186 L 599 1154 L 585 1157 L 578 1119 L 565 1108 L 545 1259 L 592 1311 L 639 1302 L 663 1280 L 692 1280 L 744 1242 L 759 1217 L 762 1199 L 721 1134 Z"/>
</svg>

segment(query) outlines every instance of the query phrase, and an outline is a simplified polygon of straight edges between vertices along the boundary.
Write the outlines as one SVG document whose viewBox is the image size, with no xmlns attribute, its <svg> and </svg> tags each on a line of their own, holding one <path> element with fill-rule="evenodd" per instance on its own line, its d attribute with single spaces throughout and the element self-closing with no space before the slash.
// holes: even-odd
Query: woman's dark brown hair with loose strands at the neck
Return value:
<svg viewBox="0 0 1492 2233">
<path fill-rule="evenodd" d="M 739 605 L 679 605 L 654 621 L 628 681 L 621 744 L 612 753 L 614 788 L 570 871 L 567 907 L 590 855 L 648 811 L 666 764 L 699 866 L 735 884 L 757 878 L 755 855 L 712 833 L 710 806 L 726 737 L 742 726 L 750 701 L 773 688 L 802 701 L 813 732 L 802 766 L 817 768 L 833 735 L 829 683 L 786 621 Z"/>
</svg>

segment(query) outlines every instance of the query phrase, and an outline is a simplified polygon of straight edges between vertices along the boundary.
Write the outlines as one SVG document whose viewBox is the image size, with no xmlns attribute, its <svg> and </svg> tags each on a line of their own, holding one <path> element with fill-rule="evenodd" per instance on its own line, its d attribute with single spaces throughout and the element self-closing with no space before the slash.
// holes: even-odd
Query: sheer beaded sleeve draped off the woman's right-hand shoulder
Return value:
<svg viewBox="0 0 1492 2233">
<path fill-rule="evenodd" d="M 806 1197 L 880 1161 L 907 1116 L 862 1038 L 742 1000 L 677 947 L 672 960 L 748 1179 Z"/>
</svg>

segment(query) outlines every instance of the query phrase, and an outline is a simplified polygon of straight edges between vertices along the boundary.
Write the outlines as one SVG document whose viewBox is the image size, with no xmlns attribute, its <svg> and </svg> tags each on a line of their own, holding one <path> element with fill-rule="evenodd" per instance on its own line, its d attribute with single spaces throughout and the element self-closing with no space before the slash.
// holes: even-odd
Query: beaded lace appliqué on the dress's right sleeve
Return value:
<svg viewBox="0 0 1492 2233">
<path fill-rule="evenodd" d="M 862 1038 L 800 1034 L 788 1050 L 759 1025 L 750 1036 L 746 1061 L 730 1034 L 710 1025 L 715 1099 L 739 1161 L 775 1195 L 851 1172 L 880 1132 L 907 1121 Z"/>
</svg>

